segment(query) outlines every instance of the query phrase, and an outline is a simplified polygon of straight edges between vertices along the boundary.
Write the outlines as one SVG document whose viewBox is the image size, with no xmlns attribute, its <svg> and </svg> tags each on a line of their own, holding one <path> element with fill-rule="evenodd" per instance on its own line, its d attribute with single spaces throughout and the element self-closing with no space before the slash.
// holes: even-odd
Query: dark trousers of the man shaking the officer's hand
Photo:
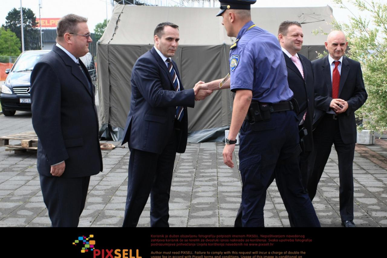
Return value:
<svg viewBox="0 0 387 258">
<path fill-rule="evenodd" d="M 169 227 L 168 202 L 175 157 L 174 132 L 161 154 L 130 149 L 123 227 L 137 226 L 149 194 L 151 194 L 151 227 Z"/>
</svg>

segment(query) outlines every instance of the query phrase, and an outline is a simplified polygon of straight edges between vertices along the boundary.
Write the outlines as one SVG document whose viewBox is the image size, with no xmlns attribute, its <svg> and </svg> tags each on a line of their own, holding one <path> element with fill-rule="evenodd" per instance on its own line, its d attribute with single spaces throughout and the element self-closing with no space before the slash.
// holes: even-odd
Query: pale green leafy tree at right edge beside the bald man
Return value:
<svg viewBox="0 0 387 258">
<path fill-rule="evenodd" d="M 351 11 L 342 0 L 335 2 Z M 339 27 L 349 41 L 348 56 L 361 63 L 368 93 L 356 115 L 363 118 L 364 128 L 382 132 L 387 130 L 387 5 L 365 0 L 348 2 L 361 15 L 352 13 L 349 23 Z"/>
</svg>

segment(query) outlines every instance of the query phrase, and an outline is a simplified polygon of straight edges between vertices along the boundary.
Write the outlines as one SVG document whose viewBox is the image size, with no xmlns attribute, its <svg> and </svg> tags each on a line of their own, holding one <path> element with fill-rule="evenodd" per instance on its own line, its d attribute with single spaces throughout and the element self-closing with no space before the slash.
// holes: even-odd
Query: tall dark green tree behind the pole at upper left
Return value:
<svg viewBox="0 0 387 258">
<path fill-rule="evenodd" d="M 5 17 L 4 28 L 8 29 L 16 34 L 21 40 L 21 20 L 20 9 L 16 8 L 9 11 L 7 17 Z M 24 32 L 24 48 L 25 50 L 40 49 L 39 45 L 39 31 L 36 28 L 36 16 L 31 9 L 23 7 L 23 32 Z M 21 48 L 20 48 L 21 50 Z"/>
</svg>

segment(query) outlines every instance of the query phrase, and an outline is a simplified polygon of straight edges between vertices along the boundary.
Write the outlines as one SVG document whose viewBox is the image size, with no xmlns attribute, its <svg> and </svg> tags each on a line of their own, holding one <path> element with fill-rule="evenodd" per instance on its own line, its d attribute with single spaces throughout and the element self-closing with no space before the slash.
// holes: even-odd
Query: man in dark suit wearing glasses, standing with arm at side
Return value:
<svg viewBox="0 0 387 258">
<path fill-rule="evenodd" d="M 90 175 L 102 171 L 94 86 L 79 60 L 92 41 L 86 22 L 74 14 L 62 17 L 57 45 L 31 74 L 38 172 L 53 227 L 78 225 Z"/>
</svg>

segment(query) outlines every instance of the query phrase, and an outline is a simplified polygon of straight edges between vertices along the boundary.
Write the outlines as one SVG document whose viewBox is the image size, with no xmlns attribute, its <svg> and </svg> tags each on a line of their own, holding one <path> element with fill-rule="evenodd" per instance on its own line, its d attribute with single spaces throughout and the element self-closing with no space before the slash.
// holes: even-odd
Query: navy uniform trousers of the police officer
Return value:
<svg viewBox="0 0 387 258">
<path fill-rule="evenodd" d="M 266 191 L 276 184 L 296 227 L 319 227 L 312 202 L 303 190 L 298 157 L 298 120 L 293 111 L 271 114 L 268 121 L 240 130 L 239 169 L 242 177 L 242 226 L 263 227 Z"/>
</svg>

